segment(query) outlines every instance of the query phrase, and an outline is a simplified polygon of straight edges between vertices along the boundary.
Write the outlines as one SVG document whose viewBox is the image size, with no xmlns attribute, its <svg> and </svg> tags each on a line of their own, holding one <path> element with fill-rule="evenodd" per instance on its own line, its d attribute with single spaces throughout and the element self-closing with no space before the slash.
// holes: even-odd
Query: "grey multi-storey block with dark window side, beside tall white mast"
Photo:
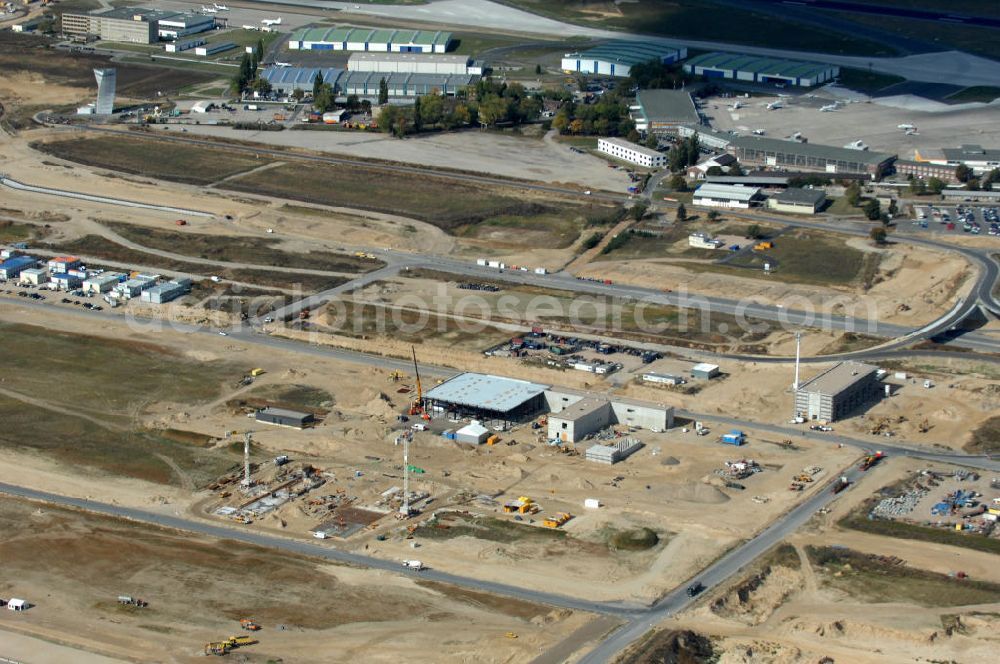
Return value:
<svg viewBox="0 0 1000 664">
<path fill-rule="evenodd" d="M 843 419 L 881 395 L 878 367 L 860 362 L 840 362 L 799 385 L 795 412 L 808 420 Z"/>
</svg>

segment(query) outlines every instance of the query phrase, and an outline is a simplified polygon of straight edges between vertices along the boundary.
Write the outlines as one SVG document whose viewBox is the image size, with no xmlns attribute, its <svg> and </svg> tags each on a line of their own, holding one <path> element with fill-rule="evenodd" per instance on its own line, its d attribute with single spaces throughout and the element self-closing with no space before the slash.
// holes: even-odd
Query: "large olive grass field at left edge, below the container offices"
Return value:
<svg viewBox="0 0 1000 664">
<path fill-rule="evenodd" d="M 217 397 L 242 367 L 198 362 L 154 344 L 31 325 L 0 323 L 0 334 L 3 388 L 16 393 L 0 394 L 0 445 L 162 484 L 200 485 L 238 461 L 146 430 L 138 418 L 153 403 L 193 405 Z M 184 480 L 164 457 L 180 467 Z"/>
</svg>

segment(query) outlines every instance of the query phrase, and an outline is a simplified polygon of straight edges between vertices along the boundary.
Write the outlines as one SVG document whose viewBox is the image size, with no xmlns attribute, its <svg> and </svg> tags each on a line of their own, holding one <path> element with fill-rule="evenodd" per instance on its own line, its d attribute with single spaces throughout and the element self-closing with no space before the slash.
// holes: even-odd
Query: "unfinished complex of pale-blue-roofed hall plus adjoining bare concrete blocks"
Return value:
<svg viewBox="0 0 1000 664">
<path fill-rule="evenodd" d="M 463 373 L 424 394 L 430 412 L 452 419 L 471 418 L 493 425 L 549 416 L 550 437 L 576 442 L 613 424 L 665 431 L 674 409 L 663 404 L 608 399 L 565 388 L 479 373 Z"/>
</svg>

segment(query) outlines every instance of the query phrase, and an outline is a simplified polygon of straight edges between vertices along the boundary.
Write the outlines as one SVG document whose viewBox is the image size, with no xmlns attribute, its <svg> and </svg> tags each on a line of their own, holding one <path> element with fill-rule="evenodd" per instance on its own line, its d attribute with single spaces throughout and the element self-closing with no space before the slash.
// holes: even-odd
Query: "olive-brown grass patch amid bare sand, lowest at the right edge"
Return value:
<svg viewBox="0 0 1000 664">
<path fill-rule="evenodd" d="M 865 602 L 946 607 L 990 604 L 1000 596 L 1000 584 L 889 565 L 850 549 L 809 546 L 806 552 L 823 585 Z"/>
</svg>

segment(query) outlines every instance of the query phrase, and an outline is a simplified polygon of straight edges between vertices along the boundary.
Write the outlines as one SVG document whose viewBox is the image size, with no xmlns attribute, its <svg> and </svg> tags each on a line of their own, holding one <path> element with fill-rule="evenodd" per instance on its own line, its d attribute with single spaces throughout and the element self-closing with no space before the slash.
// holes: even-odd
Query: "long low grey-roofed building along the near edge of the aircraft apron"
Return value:
<svg viewBox="0 0 1000 664">
<path fill-rule="evenodd" d="M 831 175 L 860 173 L 873 180 L 882 177 L 896 159 L 896 155 L 883 152 L 851 150 L 763 136 L 734 136 L 728 151 L 744 166 Z"/>
</svg>

